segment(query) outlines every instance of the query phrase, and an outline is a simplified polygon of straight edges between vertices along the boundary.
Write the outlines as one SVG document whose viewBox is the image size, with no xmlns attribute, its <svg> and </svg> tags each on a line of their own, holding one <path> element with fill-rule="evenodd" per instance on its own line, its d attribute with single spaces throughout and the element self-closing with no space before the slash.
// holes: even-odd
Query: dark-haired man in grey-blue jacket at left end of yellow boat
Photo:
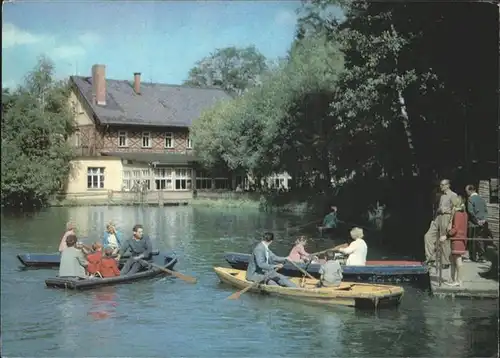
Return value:
<svg viewBox="0 0 500 358">
<path fill-rule="evenodd" d="M 267 285 L 297 287 L 286 276 L 276 272 L 283 267 L 283 265 L 276 265 L 276 263 L 284 263 L 287 258 L 277 256 L 269 249 L 273 240 L 274 234 L 266 232 L 262 241 L 255 246 L 248 263 L 246 279 L 253 282 L 264 281 Z"/>
</svg>

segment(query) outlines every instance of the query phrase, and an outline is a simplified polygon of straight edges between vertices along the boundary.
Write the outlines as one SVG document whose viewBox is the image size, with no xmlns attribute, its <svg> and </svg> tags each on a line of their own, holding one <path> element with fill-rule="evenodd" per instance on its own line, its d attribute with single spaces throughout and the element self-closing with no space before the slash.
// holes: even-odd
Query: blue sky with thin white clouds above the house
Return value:
<svg viewBox="0 0 500 358">
<path fill-rule="evenodd" d="M 217 48 L 255 45 L 268 59 L 286 55 L 300 1 L 37 1 L 3 5 L 2 87 L 23 82 L 45 54 L 56 76 L 181 84 Z"/>
</svg>

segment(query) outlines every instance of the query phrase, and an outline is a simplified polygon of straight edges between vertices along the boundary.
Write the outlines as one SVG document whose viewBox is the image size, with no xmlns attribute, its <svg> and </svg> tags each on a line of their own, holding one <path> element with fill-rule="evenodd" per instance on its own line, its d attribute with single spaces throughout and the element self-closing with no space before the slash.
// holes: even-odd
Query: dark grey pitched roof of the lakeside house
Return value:
<svg viewBox="0 0 500 358">
<path fill-rule="evenodd" d="M 189 127 L 201 113 L 232 97 L 221 89 L 106 79 L 106 105 L 93 103 L 92 77 L 71 76 L 102 124 Z"/>
</svg>

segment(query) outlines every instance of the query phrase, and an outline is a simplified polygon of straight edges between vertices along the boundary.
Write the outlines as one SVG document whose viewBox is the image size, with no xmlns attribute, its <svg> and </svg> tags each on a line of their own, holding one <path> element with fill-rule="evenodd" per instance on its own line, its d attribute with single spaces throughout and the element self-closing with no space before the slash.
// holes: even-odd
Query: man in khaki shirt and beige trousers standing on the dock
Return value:
<svg viewBox="0 0 500 358">
<path fill-rule="evenodd" d="M 424 235 L 425 262 L 427 264 L 436 262 L 437 246 L 440 245 L 441 265 L 446 269 L 450 267 L 450 242 L 441 242 L 439 238 L 446 235 L 446 230 L 451 220 L 452 199 L 457 194 L 450 189 L 450 181 L 448 179 L 441 180 L 439 189 L 442 193 L 439 199 L 439 206 L 434 213 L 434 218 L 431 221 L 429 229 Z"/>
</svg>

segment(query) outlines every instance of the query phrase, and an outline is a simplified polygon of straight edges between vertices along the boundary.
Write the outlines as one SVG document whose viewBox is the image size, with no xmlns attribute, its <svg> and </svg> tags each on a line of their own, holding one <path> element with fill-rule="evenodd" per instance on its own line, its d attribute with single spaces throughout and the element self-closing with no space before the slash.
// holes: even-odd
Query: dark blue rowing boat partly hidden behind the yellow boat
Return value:
<svg viewBox="0 0 500 358">
<path fill-rule="evenodd" d="M 227 252 L 224 259 L 232 268 L 246 270 L 251 255 Z M 298 264 L 312 276 L 319 278 L 320 264 Z M 292 264 L 286 263 L 280 271 L 285 276 L 301 277 L 302 273 Z M 420 261 L 366 261 L 365 266 L 342 266 L 344 279 L 354 282 L 419 282 L 427 284 L 429 268 Z"/>
</svg>

